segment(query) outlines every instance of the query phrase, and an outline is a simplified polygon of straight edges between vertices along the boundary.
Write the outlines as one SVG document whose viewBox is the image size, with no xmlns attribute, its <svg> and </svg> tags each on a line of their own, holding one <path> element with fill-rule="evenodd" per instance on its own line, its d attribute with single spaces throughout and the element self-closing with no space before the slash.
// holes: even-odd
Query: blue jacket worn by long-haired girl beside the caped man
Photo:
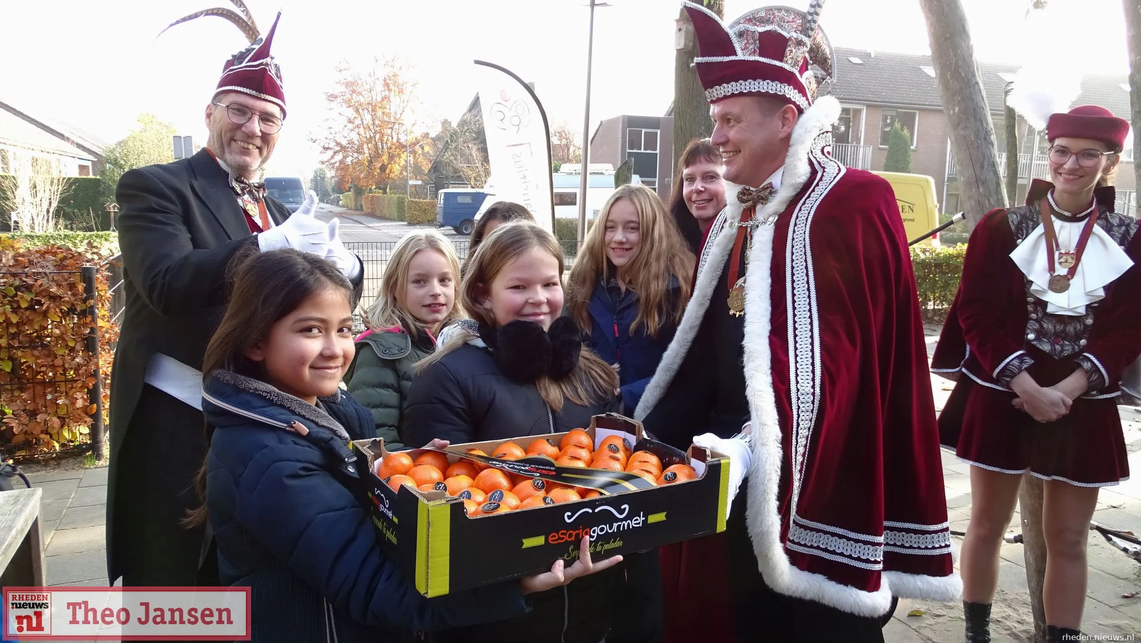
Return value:
<svg viewBox="0 0 1141 643">
<path fill-rule="evenodd" d="M 616 286 L 610 287 L 616 290 Z M 681 286 L 675 278 L 670 278 L 664 311 L 671 315 L 679 303 Z M 583 340 L 610 364 L 618 365 L 618 380 L 622 386 L 622 404 L 626 413 L 633 413 L 641 400 L 646 385 L 657 370 L 662 355 L 673 339 L 678 327 L 670 319 L 657 331 L 657 337 L 650 337 L 645 328 L 639 328 L 633 335 L 630 327 L 638 316 L 638 294 L 626 289 L 617 302 L 607 292 L 606 286 L 598 283 L 591 294 L 588 311 L 590 311 L 590 333 L 583 333 Z"/>
</svg>

